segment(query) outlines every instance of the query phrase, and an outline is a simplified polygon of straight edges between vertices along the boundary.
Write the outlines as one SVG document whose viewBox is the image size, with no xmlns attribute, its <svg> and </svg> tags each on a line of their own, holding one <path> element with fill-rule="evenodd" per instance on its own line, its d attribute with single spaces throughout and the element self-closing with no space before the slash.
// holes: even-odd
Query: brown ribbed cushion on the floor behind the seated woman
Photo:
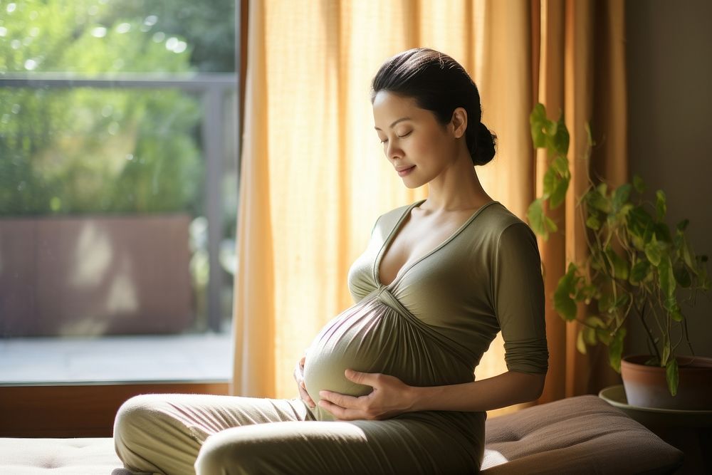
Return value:
<svg viewBox="0 0 712 475">
<path fill-rule="evenodd" d="M 683 454 L 596 396 L 487 421 L 482 469 L 498 474 L 666 474 Z"/>
</svg>

